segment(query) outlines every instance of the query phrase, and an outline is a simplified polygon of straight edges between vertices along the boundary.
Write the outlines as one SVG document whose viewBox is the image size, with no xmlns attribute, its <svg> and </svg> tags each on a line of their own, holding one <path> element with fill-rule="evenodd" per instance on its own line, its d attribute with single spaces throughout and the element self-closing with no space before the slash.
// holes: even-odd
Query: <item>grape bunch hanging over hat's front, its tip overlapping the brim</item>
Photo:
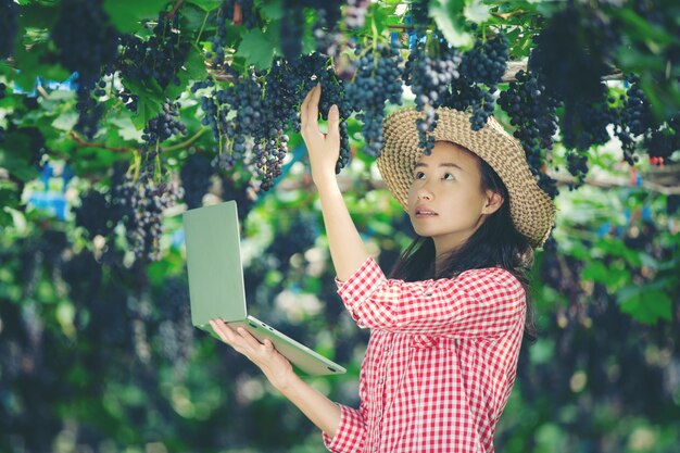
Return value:
<svg viewBox="0 0 680 453">
<path fill-rule="evenodd" d="M 417 119 L 419 146 L 429 154 L 435 147 L 431 133 L 437 127 L 436 109 L 448 99 L 451 85 L 459 77 L 458 65 L 461 53 L 437 39 L 436 55 L 429 55 L 427 50 L 431 46 L 418 42 L 412 50 L 404 67 L 403 80 L 415 95 L 416 109 L 424 112 L 425 117 Z"/>
</svg>

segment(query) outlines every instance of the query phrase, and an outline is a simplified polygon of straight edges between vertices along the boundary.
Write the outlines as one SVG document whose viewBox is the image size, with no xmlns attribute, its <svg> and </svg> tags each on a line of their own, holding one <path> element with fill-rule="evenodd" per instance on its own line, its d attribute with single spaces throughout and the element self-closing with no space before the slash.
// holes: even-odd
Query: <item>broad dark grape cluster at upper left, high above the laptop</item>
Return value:
<svg viewBox="0 0 680 453">
<path fill-rule="evenodd" d="M 123 35 L 119 42 L 122 50 L 116 67 L 124 76 L 135 80 L 156 80 L 163 89 L 171 83 L 179 85 L 177 74 L 191 46 L 181 40 L 178 14 L 172 18 L 164 13 L 159 14 L 153 35 L 147 40 L 135 35 Z"/>
</svg>

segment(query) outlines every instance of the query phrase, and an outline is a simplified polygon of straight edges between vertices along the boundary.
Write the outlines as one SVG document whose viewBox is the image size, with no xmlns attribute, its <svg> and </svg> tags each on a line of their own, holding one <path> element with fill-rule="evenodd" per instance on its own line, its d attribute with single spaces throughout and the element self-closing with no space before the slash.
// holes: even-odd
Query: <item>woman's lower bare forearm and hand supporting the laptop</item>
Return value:
<svg viewBox="0 0 680 453">
<path fill-rule="evenodd" d="M 269 340 L 265 340 L 263 344 L 245 329 L 239 327 L 234 331 L 222 320 L 211 320 L 210 325 L 225 343 L 257 365 L 269 382 L 322 431 L 330 437 L 337 433 L 340 407 L 300 379 L 290 362 L 274 349 Z"/>
</svg>

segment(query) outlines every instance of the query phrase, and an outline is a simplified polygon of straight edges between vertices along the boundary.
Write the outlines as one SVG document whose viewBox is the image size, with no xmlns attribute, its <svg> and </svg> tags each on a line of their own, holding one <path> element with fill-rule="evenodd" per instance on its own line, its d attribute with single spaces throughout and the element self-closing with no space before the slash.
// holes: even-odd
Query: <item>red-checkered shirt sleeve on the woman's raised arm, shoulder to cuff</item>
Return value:
<svg viewBox="0 0 680 453">
<path fill-rule="evenodd" d="M 455 278 L 407 282 L 388 279 L 373 257 L 338 293 L 362 328 L 459 338 L 500 336 L 524 322 L 525 291 L 499 267 L 466 270 Z"/>
</svg>

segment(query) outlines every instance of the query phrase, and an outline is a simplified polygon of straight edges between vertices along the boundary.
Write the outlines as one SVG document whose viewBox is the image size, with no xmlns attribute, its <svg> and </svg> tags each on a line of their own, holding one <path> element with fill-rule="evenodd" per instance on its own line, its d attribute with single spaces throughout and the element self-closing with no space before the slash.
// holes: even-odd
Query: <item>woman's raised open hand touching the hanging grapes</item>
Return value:
<svg viewBox="0 0 680 453">
<path fill-rule="evenodd" d="M 335 180 L 336 163 L 340 156 L 340 112 L 337 105 L 328 111 L 328 134 L 318 128 L 318 101 L 322 85 L 312 88 L 300 104 L 301 133 L 307 147 L 312 178 L 317 186 L 328 178 Z"/>
</svg>

